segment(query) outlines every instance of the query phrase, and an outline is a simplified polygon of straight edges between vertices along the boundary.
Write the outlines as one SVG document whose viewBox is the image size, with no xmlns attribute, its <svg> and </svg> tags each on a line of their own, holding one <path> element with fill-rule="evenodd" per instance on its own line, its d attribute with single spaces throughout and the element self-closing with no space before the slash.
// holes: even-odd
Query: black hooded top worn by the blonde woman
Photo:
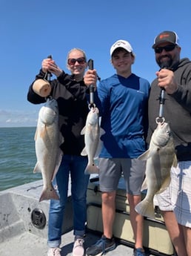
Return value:
<svg viewBox="0 0 191 256">
<path fill-rule="evenodd" d="M 45 73 L 40 70 L 36 79 L 44 79 Z M 35 81 L 34 81 L 35 82 Z M 61 73 L 57 79 L 50 81 L 51 96 L 58 102 L 59 129 L 64 137 L 64 143 L 60 146 L 64 154 L 81 155 L 84 148 L 84 136 L 81 130 L 84 128 L 89 112 L 87 102 L 87 86 L 84 80 L 76 82 L 73 75 Z M 33 91 L 33 83 L 27 93 L 27 100 L 33 104 L 46 101 Z"/>
</svg>

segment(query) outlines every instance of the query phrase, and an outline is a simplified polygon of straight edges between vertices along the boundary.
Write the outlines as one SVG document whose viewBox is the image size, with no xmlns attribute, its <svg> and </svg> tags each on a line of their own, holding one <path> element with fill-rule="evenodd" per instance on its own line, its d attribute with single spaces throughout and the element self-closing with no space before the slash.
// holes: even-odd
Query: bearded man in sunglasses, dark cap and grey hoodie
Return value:
<svg viewBox="0 0 191 256">
<path fill-rule="evenodd" d="M 161 68 L 152 82 L 148 140 L 156 128 L 158 95 L 164 94 L 164 115 L 170 122 L 178 166 L 171 168 L 170 187 L 156 199 L 178 256 L 191 256 L 191 62 L 180 59 L 178 35 L 164 31 L 155 37 L 155 61 Z"/>
</svg>

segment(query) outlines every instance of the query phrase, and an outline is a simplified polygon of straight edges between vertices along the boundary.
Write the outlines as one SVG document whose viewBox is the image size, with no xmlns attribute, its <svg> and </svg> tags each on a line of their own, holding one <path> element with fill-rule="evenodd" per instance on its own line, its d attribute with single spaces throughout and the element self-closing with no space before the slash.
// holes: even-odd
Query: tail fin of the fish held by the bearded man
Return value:
<svg viewBox="0 0 191 256">
<path fill-rule="evenodd" d="M 148 201 L 146 199 L 142 200 L 135 206 L 135 211 L 142 216 L 147 216 L 155 219 L 155 209 L 153 201 Z"/>
</svg>

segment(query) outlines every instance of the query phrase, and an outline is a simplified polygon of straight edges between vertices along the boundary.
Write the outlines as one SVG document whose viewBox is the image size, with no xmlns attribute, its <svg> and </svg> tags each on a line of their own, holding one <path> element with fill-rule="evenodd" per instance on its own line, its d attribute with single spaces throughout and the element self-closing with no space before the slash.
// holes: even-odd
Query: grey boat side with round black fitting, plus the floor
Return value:
<svg viewBox="0 0 191 256">
<path fill-rule="evenodd" d="M 49 201 L 38 202 L 42 180 L 0 191 L 0 255 L 46 256 Z M 61 255 L 72 256 L 73 218 L 70 190 L 63 226 Z M 67 224 L 67 226 L 66 226 Z M 92 245 L 101 233 L 87 231 L 84 247 Z M 133 243 L 117 240 L 108 256 L 133 255 Z M 147 255 L 158 255 L 155 252 Z M 162 255 L 162 254 L 161 254 Z"/>
</svg>

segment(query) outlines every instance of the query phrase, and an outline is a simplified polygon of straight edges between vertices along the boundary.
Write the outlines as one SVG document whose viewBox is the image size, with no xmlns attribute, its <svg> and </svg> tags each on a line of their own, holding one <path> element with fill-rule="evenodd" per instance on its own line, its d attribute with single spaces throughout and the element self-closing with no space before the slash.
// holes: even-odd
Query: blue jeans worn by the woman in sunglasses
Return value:
<svg viewBox="0 0 191 256">
<path fill-rule="evenodd" d="M 53 186 L 58 186 L 60 200 L 50 200 L 48 246 L 59 247 L 61 244 L 61 229 L 64 208 L 67 202 L 69 174 L 71 177 L 71 193 L 73 200 L 74 234 L 83 236 L 87 221 L 87 185 L 90 175 L 84 174 L 87 157 L 64 155 L 61 165 L 53 180 Z"/>
</svg>

